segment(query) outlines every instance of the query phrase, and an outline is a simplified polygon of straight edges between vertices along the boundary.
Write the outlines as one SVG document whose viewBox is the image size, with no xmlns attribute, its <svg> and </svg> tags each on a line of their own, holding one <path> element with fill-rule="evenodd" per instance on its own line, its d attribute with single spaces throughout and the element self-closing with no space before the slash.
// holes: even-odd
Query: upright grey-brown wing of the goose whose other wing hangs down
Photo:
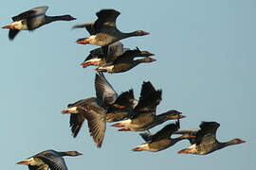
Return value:
<svg viewBox="0 0 256 170">
<path fill-rule="evenodd" d="M 113 104 L 118 97 L 118 93 L 115 92 L 106 78 L 98 74 L 95 76 L 95 90 L 97 98 L 104 104 Z"/>
</svg>

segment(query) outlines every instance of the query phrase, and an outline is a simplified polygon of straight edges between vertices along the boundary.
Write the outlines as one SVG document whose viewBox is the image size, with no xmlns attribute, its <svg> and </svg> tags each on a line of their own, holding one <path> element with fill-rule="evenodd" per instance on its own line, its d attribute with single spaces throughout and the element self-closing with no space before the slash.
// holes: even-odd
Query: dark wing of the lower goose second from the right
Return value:
<svg viewBox="0 0 256 170">
<path fill-rule="evenodd" d="M 176 121 L 175 124 L 169 124 L 165 127 L 163 127 L 161 130 L 157 131 L 153 136 L 152 136 L 152 142 L 159 141 L 161 139 L 166 139 L 170 138 L 171 135 L 178 130 L 180 127 L 179 121 Z"/>
</svg>

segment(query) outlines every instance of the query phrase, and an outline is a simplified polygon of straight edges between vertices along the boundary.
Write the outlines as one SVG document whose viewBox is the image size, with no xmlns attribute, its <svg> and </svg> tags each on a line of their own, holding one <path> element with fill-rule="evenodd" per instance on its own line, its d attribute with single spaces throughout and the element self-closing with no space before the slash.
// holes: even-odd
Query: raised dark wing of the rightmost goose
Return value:
<svg viewBox="0 0 256 170">
<path fill-rule="evenodd" d="M 220 125 L 216 122 L 202 122 L 200 130 L 196 133 L 195 144 L 215 142 L 216 131 Z"/>
</svg>

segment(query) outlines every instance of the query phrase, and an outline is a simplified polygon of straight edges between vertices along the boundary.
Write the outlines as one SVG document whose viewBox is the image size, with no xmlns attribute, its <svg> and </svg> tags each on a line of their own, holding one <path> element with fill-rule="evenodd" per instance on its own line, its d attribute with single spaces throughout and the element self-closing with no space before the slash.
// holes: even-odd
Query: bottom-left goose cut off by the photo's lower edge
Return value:
<svg viewBox="0 0 256 170">
<path fill-rule="evenodd" d="M 24 161 L 19 161 L 17 164 L 24 164 L 28 166 L 29 170 L 67 170 L 64 156 L 76 157 L 82 153 L 77 151 L 58 152 L 55 150 L 46 150 L 40 152 Z"/>
</svg>

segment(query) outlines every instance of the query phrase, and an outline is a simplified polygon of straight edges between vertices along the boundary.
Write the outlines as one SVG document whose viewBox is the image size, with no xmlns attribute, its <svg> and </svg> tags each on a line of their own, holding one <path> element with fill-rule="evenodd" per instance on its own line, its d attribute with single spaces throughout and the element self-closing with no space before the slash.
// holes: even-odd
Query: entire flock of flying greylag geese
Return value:
<svg viewBox="0 0 256 170">
<path fill-rule="evenodd" d="M 70 15 L 46 16 L 47 7 L 31 8 L 17 16 L 12 17 L 12 23 L 3 28 L 9 29 L 9 40 L 13 40 L 20 30 L 34 30 L 55 21 L 72 21 L 76 18 Z M 85 28 L 90 36 L 80 38 L 77 43 L 93 44 L 101 47 L 90 51 L 90 54 L 81 63 L 85 68 L 94 65 L 97 68 L 95 76 L 96 96 L 79 100 L 69 104 L 62 110 L 63 114 L 70 114 L 70 127 L 75 138 L 84 122 L 87 121 L 90 135 L 93 137 L 97 147 L 101 147 L 104 139 L 106 122 L 113 123 L 112 127 L 119 127 L 119 131 L 147 131 L 140 136 L 146 143 L 139 144 L 133 151 L 157 152 L 166 149 L 181 140 L 189 140 L 191 146 L 178 151 L 184 154 L 206 155 L 230 144 L 242 144 L 245 141 L 233 139 L 226 143 L 216 140 L 216 131 L 220 126 L 217 122 L 202 122 L 200 128 L 179 130 L 180 119 L 185 118 L 178 110 L 167 110 L 156 114 L 156 108 L 161 102 L 161 90 L 155 90 L 150 81 L 144 81 L 138 100 L 132 89 L 124 93 L 117 93 L 107 81 L 103 73 L 126 72 L 139 63 L 153 62 L 150 58 L 154 54 L 141 51 L 138 48 L 124 48 L 119 41 L 133 36 L 144 36 L 149 33 L 137 30 L 130 33 L 119 31 L 116 20 L 119 11 L 115 9 L 101 9 L 96 15 L 98 19 L 92 23 L 73 26 L 73 28 Z M 135 59 L 141 58 L 141 59 Z M 158 126 L 168 120 L 176 120 L 155 134 L 149 129 Z M 180 135 L 171 138 L 173 134 Z M 80 156 L 77 151 L 58 152 L 46 150 L 40 152 L 18 164 L 28 165 L 29 170 L 66 170 L 64 156 Z"/>
</svg>

